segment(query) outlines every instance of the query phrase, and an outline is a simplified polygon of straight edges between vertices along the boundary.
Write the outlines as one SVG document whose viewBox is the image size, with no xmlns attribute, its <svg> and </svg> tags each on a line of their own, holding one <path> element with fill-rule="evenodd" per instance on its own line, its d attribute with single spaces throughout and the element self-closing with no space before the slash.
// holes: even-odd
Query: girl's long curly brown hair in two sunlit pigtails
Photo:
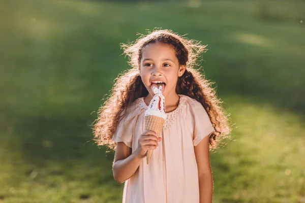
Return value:
<svg viewBox="0 0 305 203">
<path fill-rule="evenodd" d="M 176 52 L 179 65 L 186 65 L 185 73 L 178 78 L 176 93 L 194 98 L 204 107 L 215 128 L 209 136 L 209 147 L 210 150 L 216 149 L 224 138 L 229 138 L 231 126 L 229 114 L 223 110 L 220 105 L 222 102 L 211 87 L 214 83 L 206 80 L 200 73 L 200 68 L 197 68 L 200 54 L 206 51 L 206 46 L 168 29 L 155 29 L 152 32 L 148 30 L 147 35 L 141 35 L 136 42 L 121 44 L 124 53 L 129 56 L 132 69 L 115 79 L 110 95 L 98 111 L 98 118 L 93 125 L 96 143 L 115 150 L 116 144 L 112 141 L 112 136 L 119 122 L 126 116 L 124 110 L 136 99 L 148 95 L 138 72 L 138 62 L 141 60 L 143 48 L 153 43 L 171 45 Z"/>
</svg>

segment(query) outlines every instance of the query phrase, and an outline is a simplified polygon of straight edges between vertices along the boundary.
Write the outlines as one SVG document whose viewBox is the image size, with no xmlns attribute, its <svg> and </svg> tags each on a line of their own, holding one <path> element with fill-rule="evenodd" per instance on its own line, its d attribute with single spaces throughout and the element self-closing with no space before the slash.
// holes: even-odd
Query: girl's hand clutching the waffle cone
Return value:
<svg viewBox="0 0 305 203">
<path fill-rule="evenodd" d="M 139 158 L 146 157 L 146 152 L 149 149 L 156 149 L 162 138 L 157 138 L 157 134 L 154 131 L 147 130 L 143 134 L 141 134 L 140 139 L 138 141 L 138 148 L 136 149 L 135 153 L 138 155 Z"/>
</svg>

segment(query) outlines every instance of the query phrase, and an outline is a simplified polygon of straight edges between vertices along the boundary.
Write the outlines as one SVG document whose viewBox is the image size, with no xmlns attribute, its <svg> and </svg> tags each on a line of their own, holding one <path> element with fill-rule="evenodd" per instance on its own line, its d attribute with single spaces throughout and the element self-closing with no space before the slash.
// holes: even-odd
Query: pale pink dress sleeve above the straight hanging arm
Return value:
<svg viewBox="0 0 305 203">
<path fill-rule="evenodd" d="M 191 109 L 194 121 L 193 144 L 197 146 L 203 138 L 214 132 L 215 129 L 201 103 L 194 99 Z"/>
</svg>

